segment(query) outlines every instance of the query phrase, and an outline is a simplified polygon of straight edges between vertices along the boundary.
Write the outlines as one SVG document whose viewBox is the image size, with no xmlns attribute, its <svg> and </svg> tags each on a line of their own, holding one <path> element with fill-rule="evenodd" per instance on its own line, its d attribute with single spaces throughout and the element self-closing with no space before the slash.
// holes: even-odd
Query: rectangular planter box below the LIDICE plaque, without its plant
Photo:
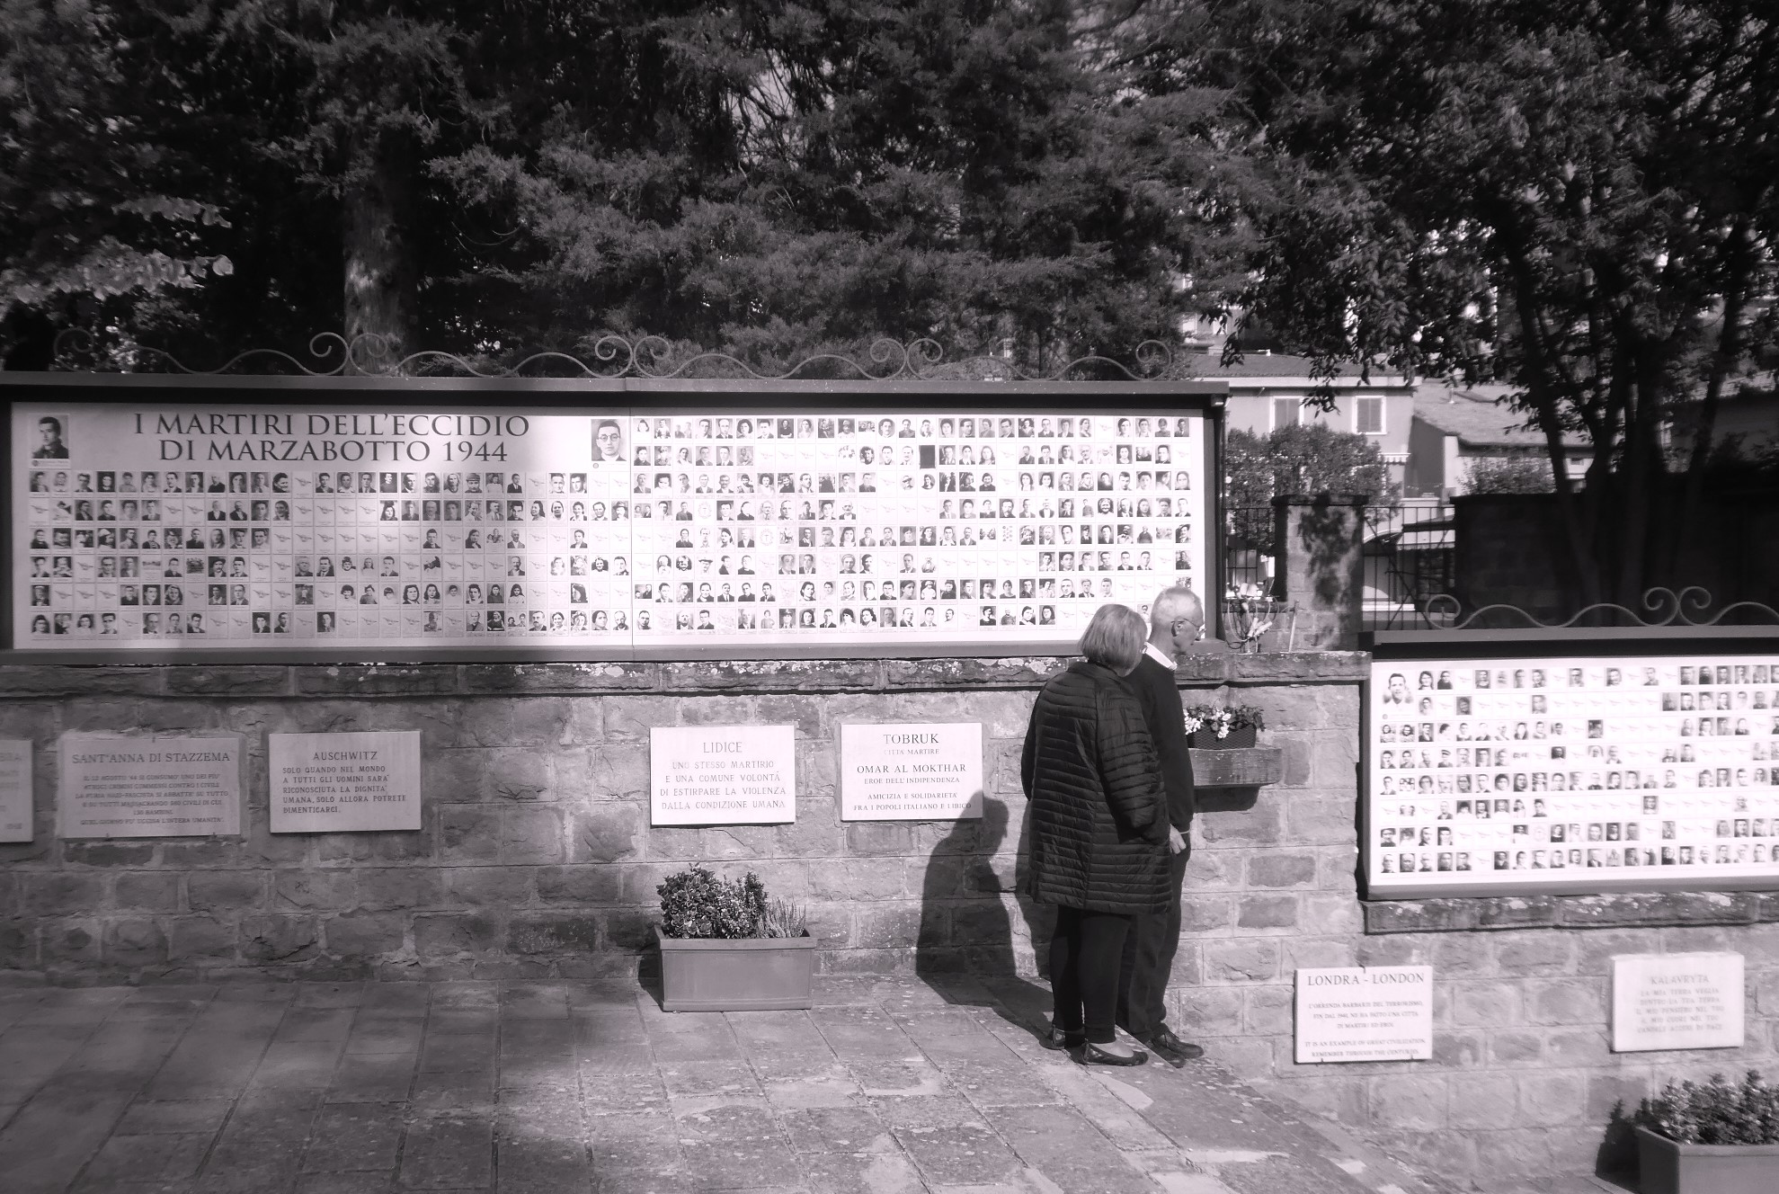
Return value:
<svg viewBox="0 0 1779 1194">
<path fill-rule="evenodd" d="M 815 938 L 664 938 L 662 1007 L 665 1011 L 776 1011 L 809 1007 L 815 986 Z"/>
</svg>

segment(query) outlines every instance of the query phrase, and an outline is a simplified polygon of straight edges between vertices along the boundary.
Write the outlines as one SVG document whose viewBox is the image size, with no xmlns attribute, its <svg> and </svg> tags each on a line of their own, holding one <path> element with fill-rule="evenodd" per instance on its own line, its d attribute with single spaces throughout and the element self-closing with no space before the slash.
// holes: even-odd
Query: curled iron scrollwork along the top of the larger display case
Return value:
<svg viewBox="0 0 1779 1194">
<path fill-rule="evenodd" d="M 966 370 L 975 370 L 975 374 L 989 381 L 1067 381 L 1087 372 L 1115 372 L 1128 381 L 1155 381 L 1174 363 L 1172 349 L 1160 340 L 1144 340 L 1139 343 L 1130 365 L 1091 352 L 1044 374 L 1021 368 L 1005 347 L 1000 354 L 978 354 L 946 361 L 945 347 L 930 338 L 911 340 L 907 343 L 890 338 L 873 340 L 865 361 L 838 352 L 817 352 L 779 374 L 760 372 L 731 352 L 712 349 L 699 349 L 683 359 L 676 359 L 674 345 L 665 336 L 637 336 L 630 340 L 619 335 L 605 335 L 592 343 L 585 356 L 553 351 L 532 352 L 514 365 L 496 367 L 438 349 L 397 356 L 393 342 L 377 333 L 365 333 L 347 340 L 340 333 L 324 331 L 310 336 L 308 347 L 313 367 L 281 349 L 247 349 L 215 368 L 192 368 L 164 349 L 137 343 L 121 347 L 117 354 L 139 367 L 148 365 L 155 370 L 192 377 L 221 377 L 240 372 L 242 367 L 251 363 L 254 367 L 285 367 L 302 377 L 340 377 L 349 374 L 372 377 L 436 377 L 445 374 L 496 379 L 557 377 L 566 374 L 571 377 L 637 377 L 649 381 L 672 381 L 678 377 L 797 381 L 811 375 L 831 377 L 838 372 L 856 381 L 943 381 L 961 375 Z M 57 358 L 64 351 L 89 352 L 91 349 L 93 335 L 82 327 L 68 327 L 55 338 Z"/>
</svg>

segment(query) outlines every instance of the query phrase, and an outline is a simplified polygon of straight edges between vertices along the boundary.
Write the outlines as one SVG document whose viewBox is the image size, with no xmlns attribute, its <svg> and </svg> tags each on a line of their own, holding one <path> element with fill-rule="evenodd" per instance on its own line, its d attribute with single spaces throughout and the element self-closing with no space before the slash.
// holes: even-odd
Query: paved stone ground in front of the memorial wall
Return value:
<svg viewBox="0 0 1779 1194">
<path fill-rule="evenodd" d="M 635 984 L 0 993 L 0 1189 L 1423 1194 L 1208 1062 L 1085 1069 L 1042 988 L 818 979 L 795 1012 Z"/>
</svg>

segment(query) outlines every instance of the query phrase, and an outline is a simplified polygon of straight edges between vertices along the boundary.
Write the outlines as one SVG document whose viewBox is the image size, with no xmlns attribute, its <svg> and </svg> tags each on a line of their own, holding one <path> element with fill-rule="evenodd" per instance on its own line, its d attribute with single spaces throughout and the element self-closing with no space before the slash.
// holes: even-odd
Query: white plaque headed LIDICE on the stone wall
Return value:
<svg viewBox="0 0 1779 1194">
<path fill-rule="evenodd" d="M 649 776 L 655 826 L 797 820 L 797 728 L 656 726 Z"/>
</svg>

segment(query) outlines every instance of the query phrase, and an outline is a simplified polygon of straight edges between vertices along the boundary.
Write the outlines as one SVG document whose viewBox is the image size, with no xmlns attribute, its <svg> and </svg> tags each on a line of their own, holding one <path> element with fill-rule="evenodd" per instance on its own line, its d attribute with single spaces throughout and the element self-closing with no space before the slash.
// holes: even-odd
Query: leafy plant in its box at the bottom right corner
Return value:
<svg viewBox="0 0 1779 1194">
<path fill-rule="evenodd" d="M 1642 1194 L 1779 1190 L 1779 1085 L 1752 1069 L 1735 1085 L 1669 1082 L 1635 1125 Z"/>
</svg>

